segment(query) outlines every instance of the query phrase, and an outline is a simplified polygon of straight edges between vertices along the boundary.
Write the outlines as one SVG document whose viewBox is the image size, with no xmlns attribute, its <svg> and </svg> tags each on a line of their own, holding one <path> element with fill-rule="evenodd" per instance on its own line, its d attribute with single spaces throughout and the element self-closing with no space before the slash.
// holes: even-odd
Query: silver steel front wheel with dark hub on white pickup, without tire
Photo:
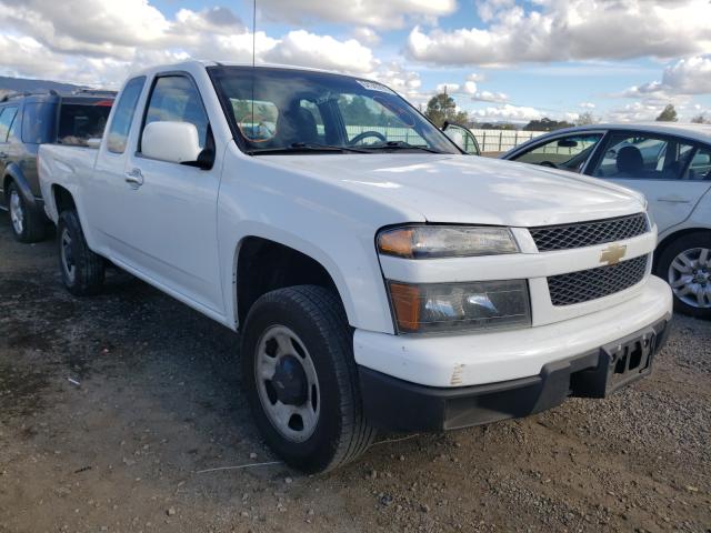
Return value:
<svg viewBox="0 0 711 533">
<path fill-rule="evenodd" d="M 274 429 L 292 442 L 309 439 L 319 421 L 321 395 L 313 360 L 284 325 L 269 328 L 257 344 L 259 400 Z"/>
</svg>

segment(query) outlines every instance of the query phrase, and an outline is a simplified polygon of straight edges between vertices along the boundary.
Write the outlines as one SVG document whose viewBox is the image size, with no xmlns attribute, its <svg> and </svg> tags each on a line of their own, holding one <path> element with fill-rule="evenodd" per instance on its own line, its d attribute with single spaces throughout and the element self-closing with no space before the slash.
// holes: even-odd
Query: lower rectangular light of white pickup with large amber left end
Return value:
<svg viewBox="0 0 711 533">
<path fill-rule="evenodd" d="M 391 281 L 400 333 L 531 325 L 525 280 L 409 284 Z"/>
</svg>

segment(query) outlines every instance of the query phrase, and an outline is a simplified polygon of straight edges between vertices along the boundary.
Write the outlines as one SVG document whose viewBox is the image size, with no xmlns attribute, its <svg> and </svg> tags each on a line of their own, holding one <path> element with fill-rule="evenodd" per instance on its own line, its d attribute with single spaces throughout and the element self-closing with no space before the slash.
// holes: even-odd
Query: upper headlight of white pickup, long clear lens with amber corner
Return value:
<svg viewBox="0 0 711 533">
<path fill-rule="evenodd" d="M 378 251 L 407 259 L 434 259 L 517 253 L 519 247 L 508 228 L 410 225 L 381 231 Z"/>
</svg>

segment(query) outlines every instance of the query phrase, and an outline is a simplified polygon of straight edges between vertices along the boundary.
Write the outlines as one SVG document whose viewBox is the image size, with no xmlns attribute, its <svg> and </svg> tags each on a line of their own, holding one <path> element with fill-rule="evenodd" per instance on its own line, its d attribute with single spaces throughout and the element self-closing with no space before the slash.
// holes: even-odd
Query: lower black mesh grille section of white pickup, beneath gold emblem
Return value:
<svg viewBox="0 0 711 533">
<path fill-rule="evenodd" d="M 629 289 L 644 278 L 647 261 L 647 255 L 640 255 L 618 264 L 551 275 L 548 279 L 551 302 L 553 305 L 570 305 Z"/>
</svg>

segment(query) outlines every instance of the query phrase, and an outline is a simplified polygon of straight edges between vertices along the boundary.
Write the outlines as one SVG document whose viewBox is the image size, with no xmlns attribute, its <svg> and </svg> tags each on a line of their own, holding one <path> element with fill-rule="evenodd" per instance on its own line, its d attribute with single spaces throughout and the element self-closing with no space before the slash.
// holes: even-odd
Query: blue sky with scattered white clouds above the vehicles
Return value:
<svg viewBox="0 0 711 533">
<path fill-rule="evenodd" d="M 219 0 L 218 0 L 219 1 Z M 184 59 L 447 88 L 474 121 L 711 120 L 711 0 L 0 0 L 0 74 L 120 87 Z"/>
</svg>

